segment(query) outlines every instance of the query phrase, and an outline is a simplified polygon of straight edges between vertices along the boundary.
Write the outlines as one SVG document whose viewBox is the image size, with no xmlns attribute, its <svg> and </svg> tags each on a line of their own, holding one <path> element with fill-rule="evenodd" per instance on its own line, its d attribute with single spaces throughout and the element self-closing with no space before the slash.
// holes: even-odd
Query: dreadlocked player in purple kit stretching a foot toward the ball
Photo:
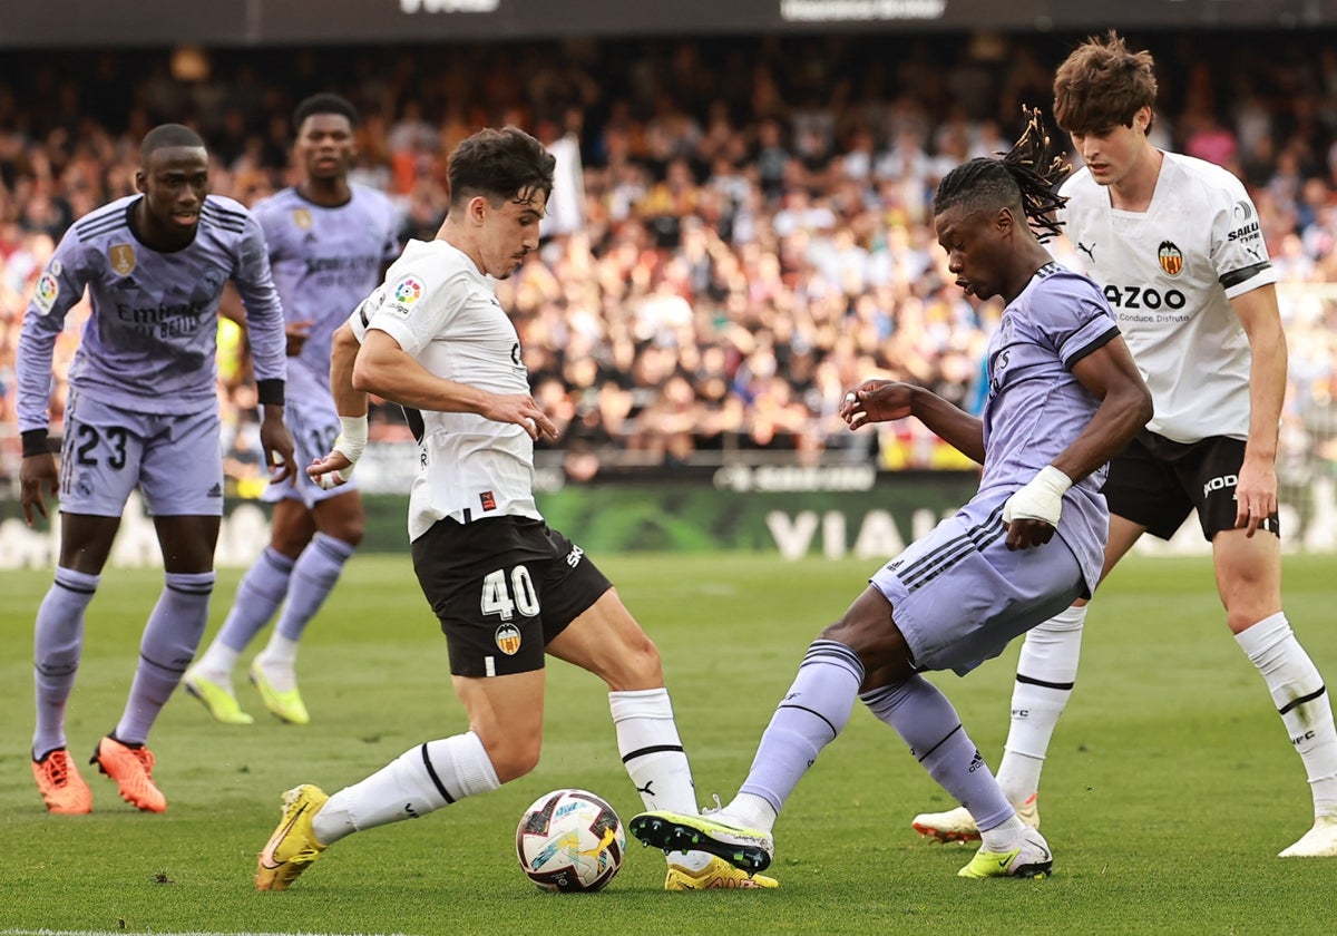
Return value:
<svg viewBox="0 0 1337 936">
<path fill-rule="evenodd" d="M 841 406 L 854 428 L 917 417 L 984 467 L 979 492 L 878 570 L 812 643 L 738 796 L 706 816 L 634 817 L 628 828 L 647 845 L 702 848 L 765 869 L 785 801 L 862 699 L 979 817 L 984 842 L 963 877 L 1052 868 L 1048 842 L 1016 814 L 952 703 L 921 675 L 964 675 L 1091 594 L 1108 519 L 1106 461 L 1151 416 L 1151 394 L 1100 289 L 1055 263 L 1040 239 L 1058 227 L 1051 183 L 1066 171 L 1062 160 L 1044 166 L 1044 142 L 1032 112 L 1011 152 L 957 166 L 935 198 L 937 239 L 957 285 L 1007 304 L 987 352 L 981 416 L 882 380 L 850 390 Z"/>
</svg>

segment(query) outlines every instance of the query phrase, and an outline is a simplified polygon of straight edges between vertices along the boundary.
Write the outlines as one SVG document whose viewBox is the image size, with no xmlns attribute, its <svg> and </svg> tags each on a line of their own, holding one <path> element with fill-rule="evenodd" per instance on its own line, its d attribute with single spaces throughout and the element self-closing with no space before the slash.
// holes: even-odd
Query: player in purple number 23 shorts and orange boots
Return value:
<svg viewBox="0 0 1337 936">
<path fill-rule="evenodd" d="M 209 619 L 223 508 L 214 357 L 227 279 L 246 301 L 265 461 L 275 480 L 293 465 L 283 427 L 283 312 L 259 225 L 242 205 L 209 194 L 205 143 L 180 124 L 144 136 L 135 187 L 140 194 L 91 211 L 66 231 L 19 338 L 28 524 L 47 516 L 43 489 L 55 495 L 59 483 L 60 493 L 60 556 L 36 622 L 32 739 L 32 772 L 53 813 L 92 809 L 92 792 L 66 747 L 66 703 L 84 611 L 136 487 L 152 512 L 166 587 L 144 626 L 124 714 L 98 742 L 92 764 L 127 802 L 155 813 L 167 808 L 147 741 Z M 52 349 L 84 289 L 92 314 L 70 369 L 57 476 L 47 448 Z"/>
</svg>

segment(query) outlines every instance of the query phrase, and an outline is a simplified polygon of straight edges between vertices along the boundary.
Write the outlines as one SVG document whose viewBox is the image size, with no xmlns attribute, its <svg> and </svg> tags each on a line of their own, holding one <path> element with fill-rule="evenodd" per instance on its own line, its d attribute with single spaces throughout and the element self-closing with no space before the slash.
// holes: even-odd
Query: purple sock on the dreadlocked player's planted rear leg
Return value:
<svg viewBox="0 0 1337 936">
<path fill-rule="evenodd" d="M 981 832 L 1012 816 L 1012 805 L 993 780 L 956 709 L 937 686 L 913 675 L 860 698 L 869 711 L 896 729 L 929 776 L 965 806 Z"/>
</svg>

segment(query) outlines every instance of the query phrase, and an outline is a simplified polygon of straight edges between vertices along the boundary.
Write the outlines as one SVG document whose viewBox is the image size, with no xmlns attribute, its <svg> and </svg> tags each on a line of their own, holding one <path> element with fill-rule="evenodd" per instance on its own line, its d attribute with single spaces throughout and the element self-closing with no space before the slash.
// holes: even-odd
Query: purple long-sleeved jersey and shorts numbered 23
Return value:
<svg viewBox="0 0 1337 936">
<path fill-rule="evenodd" d="M 255 377 L 285 377 L 283 313 L 265 237 L 246 209 L 210 195 L 190 245 L 144 246 L 142 195 L 66 231 L 37 281 L 19 338 L 19 429 L 44 429 L 51 362 L 66 316 L 88 290 L 92 314 L 70 369 L 60 508 L 120 516 L 138 484 L 156 516 L 221 515 L 218 304 L 231 279 L 246 302 Z"/>
</svg>

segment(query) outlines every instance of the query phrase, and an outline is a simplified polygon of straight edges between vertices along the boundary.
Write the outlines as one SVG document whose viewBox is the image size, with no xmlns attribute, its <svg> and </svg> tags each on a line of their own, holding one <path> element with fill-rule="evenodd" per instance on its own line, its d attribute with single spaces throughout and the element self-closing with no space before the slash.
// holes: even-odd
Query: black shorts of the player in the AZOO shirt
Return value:
<svg viewBox="0 0 1337 936">
<path fill-rule="evenodd" d="M 1142 431 L 1110 461 L 1104 499 L 1110 512 L 1170 539 L 1198 509 L 1202 535 L 1210 543 L 1222 530 L 1235 528 L 1235 485 L 1245 463 L 1242 439 L 1210 436 L 1177 443 Z M 1277 513 L 1259 524 L 1281 536 Z"/>
</svg>

